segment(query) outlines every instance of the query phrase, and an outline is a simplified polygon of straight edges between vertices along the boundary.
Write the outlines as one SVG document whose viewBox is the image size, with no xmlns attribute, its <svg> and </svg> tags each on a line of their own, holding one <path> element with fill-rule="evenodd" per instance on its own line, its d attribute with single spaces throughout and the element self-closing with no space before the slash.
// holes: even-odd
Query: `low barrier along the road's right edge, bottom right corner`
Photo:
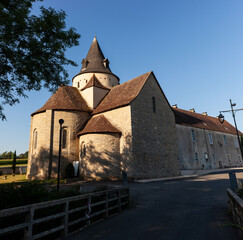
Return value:
<svg viewBox="0 0 243 240">
<path fill-rule="evenodd" d="M 231 189 L 227 189 L 229 198 L 229 211 L 232 214 L 235 224 L 243 228 L 243 199 Z"/>
</svg>

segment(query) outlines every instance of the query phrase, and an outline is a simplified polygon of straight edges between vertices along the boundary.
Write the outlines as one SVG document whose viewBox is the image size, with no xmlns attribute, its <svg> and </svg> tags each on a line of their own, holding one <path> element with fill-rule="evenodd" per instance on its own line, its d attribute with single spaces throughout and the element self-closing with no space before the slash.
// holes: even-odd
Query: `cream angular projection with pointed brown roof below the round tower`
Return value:
<svg viewBox="0 0 243 240">
<path fill-rule="evenodd" d="M 109 91 L 110 89 L 103 86 L 93 74 L 87 85 L 81 89 L 81 95 L 88 106 L 95 109 Z"/>
</svg>

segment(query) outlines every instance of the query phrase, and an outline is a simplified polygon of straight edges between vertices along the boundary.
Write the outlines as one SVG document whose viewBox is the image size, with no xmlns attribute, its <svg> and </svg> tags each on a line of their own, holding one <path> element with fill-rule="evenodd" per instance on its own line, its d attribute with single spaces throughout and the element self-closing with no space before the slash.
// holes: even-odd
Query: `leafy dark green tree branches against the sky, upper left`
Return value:
<svg viewBox="0 0 243 240">
<path fill-rule="evenodd" d="M 55 91 L 68 83 L 65 65 L 76 63 L 65 57 L 77 46 L 80 35 L 66 29 L 64 11 L 40 7 L 31 14 L 32 3 L 42 0 L 0 0 L 0 118 L 3 105 L 19 102 L 26 92 L 42 87 Z"/>
</svg>

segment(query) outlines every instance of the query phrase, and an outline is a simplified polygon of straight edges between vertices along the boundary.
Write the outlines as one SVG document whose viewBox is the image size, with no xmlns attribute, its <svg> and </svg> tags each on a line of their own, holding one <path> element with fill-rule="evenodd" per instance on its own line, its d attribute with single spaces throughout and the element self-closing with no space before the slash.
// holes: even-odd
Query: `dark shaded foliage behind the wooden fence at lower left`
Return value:
<svg viewBox="0 0 243 240">
<path fill-rule="evenodd" d="M 39 181 L 0 185 L 0 209 L 79 195 L 78 188 L 57 191 Z"/>
</svg>

